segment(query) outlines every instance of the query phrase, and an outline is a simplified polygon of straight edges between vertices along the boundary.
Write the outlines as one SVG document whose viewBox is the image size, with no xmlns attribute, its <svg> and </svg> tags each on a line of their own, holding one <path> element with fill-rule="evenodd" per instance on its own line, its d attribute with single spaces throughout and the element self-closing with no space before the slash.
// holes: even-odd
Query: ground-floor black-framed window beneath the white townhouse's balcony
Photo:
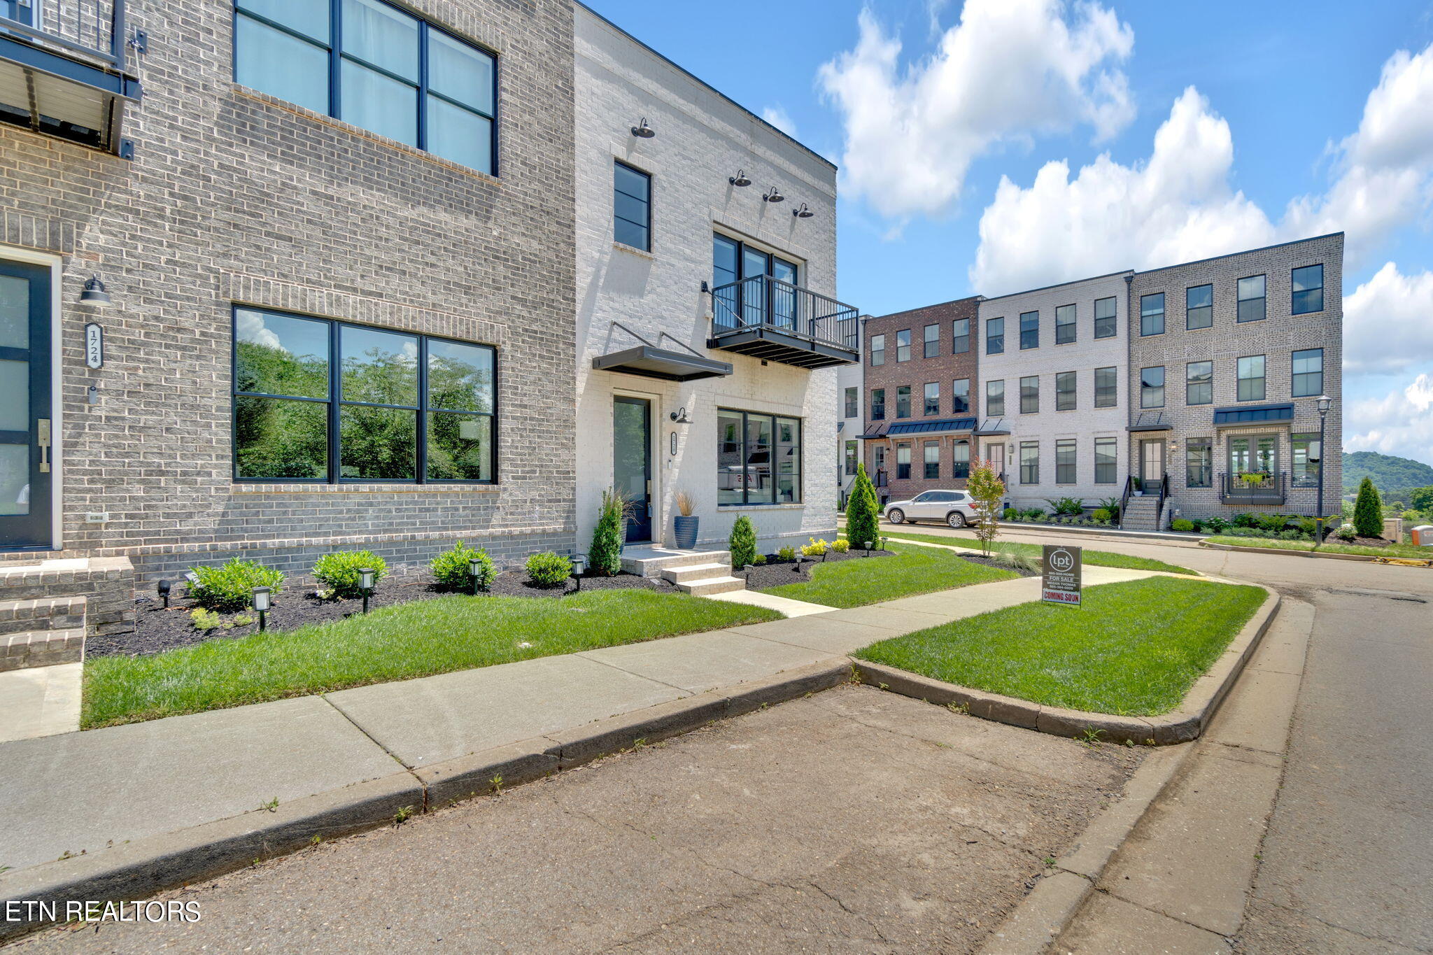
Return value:
<svg viewBox="0 0 1433 955">
<path fill-rule="evenodd" d="M 716 504 L 801 501 L 801 418 L 716 409 Z"/>
</svg>

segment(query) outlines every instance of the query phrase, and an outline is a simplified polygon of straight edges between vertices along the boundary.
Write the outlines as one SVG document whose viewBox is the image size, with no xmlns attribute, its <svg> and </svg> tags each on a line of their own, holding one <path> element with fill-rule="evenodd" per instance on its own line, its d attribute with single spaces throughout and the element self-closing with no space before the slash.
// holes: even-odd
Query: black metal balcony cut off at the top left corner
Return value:
<svg viewBox="0 0 1433 955">
<path fill-rule="evenodd" d="M 0 122 L 128 155 L 139 100 L 125 0 L 0 0 Z"/>
</svg>

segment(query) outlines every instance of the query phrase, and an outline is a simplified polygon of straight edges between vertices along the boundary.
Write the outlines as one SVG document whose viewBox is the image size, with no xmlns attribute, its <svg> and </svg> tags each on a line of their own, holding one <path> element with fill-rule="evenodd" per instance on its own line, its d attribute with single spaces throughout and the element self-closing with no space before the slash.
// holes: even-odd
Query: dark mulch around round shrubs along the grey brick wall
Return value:
<svg viewBox="0 0 1433 955">
<path fill-rule="evenodd" d="M 665 580 L 651 580 L 635 574 L 618 574 L 616 577 L 583 577 L 582 590 L 665 590 L 676 588 Z M 523 571 L 503 571 L 493 580 L 489 588 L 490 596 L 497 597 L 560 597 L 575 590 L 575 581 L 569 580 L 565 587 L 533 587 L 527 583 Z M 175 593 L 182 593 L 175 588 Z M 385 577 L 374 587 L 368 598 L 368 609 L 391 607 L 393 604 L 413 600 L 430 600 L 446 597 L 450 590 L 438 590 L 427 576 L 394 576 Z M 136 620 L 133 633 L 116 633 L 110 636 L 95 636 L 85 640 L 85 656 L 145 656 L 162 653 L 176 647 L 188 647 L 205 640 L 222 637 L 246 637 L 258 631 L 258 614 L 252 610 L 239 614 L 221 614 L 225 621 L 236 616 L 248 614 L 255 623 L 241 627 L 198 630 L 189 621 L 189 611 L 196 604 L 176 597 L 169 598 L 169 609 L 165 610 L 158 597 L 139 597 L 135 600 Z M 274 609 L 269 610 L 267 624 L 269 630 L 294 630 L 310 623 L 328 623 L 342 620 L 350 614 L 363 611 L 363 600 L 320 600 L 314 596 L 314 587 L 288 587 L 274 596 Z"/>
</svg>

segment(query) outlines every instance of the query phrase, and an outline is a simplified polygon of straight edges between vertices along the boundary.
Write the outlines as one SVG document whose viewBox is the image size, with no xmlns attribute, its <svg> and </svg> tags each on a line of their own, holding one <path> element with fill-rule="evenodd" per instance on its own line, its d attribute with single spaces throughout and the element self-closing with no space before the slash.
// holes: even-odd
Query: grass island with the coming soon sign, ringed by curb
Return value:
<svg viewBox="0 0 1433 955">
<path fill-rule="evenodd" d="M 1146 577 L 1088 587 L 1083 607 L 1020 604 L 853 656 L 1045 706 L 1156 716 L 1179 704 L 1265 597 L 1258 587 Z"/>
</svg>

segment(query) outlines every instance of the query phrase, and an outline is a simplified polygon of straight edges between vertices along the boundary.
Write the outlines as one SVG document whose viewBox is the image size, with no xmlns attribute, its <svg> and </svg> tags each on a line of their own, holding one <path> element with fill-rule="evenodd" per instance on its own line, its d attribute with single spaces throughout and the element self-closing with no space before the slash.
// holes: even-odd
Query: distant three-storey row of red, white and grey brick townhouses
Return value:
<svg viewBox="0 0 1433 955">
<path fill-rule="evenodd" d="M 867 316 L 838 382 L 843 490 L 861 460 L 894 501 L 980 458 L 1017 508 L 1313 515 L 1320 468 L 1326 508 L 1341 488 L 1341 346 L 1343 233 Z"/>
</svg>

